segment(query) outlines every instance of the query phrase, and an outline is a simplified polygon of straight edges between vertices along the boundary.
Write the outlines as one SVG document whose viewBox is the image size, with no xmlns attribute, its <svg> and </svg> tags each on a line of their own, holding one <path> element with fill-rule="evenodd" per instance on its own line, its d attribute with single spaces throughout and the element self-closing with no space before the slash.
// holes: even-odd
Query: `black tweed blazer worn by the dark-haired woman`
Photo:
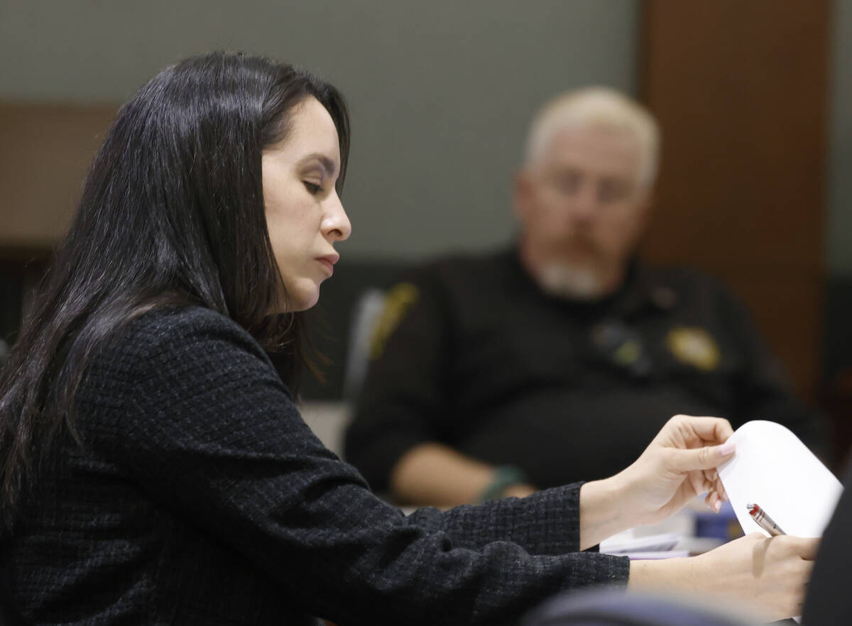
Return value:
<svg viewBox="0 0 852 626">
<path fill-rule="evenodd" d="M 209 310 L 147 313 L 78 393 L 0 566 L 35 624 L 509 624 L 624 586 L 577 553 L 579 485 L 406 515 L 302 422 L 261 347 Z"/>
</svg>

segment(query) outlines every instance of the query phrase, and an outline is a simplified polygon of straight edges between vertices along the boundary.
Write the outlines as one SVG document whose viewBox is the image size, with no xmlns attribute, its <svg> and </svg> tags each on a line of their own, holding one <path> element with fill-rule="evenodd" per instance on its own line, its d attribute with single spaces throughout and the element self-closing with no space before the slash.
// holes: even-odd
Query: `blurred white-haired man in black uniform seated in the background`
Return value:
<svg viewBox="0 0 852 626">
<path fill-rule="evenodd" d="M 659 131 L 609 89 L 544 106 L 515 177 L 515 245 L 389 291 L 346 456 L 402 503 L 452 506 L 617 473 L 677 413 L 820 428 L 745 308 L 643 267 Z"/>
</svg>

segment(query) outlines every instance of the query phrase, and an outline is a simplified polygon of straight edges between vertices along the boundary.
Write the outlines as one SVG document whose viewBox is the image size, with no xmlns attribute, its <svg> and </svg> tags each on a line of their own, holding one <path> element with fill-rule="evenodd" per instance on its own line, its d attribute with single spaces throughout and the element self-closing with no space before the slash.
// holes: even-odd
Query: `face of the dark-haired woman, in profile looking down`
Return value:
<svg viewBox="0 0 852 626">
<path fill-rule="evenodd" d="M 352 229 L 334 187 L 340 146 L 325 106 L 314 98 L 297 106 L 290 134 L 263 152 L 262 168 L 269 239 L 286 289 L 279 312 L 303 311 L 333 272 L 335 242 Z"/>
</svg>

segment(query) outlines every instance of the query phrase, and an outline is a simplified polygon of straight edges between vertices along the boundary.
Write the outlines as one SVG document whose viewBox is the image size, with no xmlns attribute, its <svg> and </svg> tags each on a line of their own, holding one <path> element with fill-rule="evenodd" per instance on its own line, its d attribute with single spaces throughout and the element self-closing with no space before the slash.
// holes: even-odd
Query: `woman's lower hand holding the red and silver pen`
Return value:
<svg viewBox="0 0 852 626">
<path fill-rule="evenodd" d="M 689 559 L 630 562 L 629 589 L 666 589 L 735 601 L 765 621 L 802 614 L 819 539 L 740 537 Z"/>
</svg>

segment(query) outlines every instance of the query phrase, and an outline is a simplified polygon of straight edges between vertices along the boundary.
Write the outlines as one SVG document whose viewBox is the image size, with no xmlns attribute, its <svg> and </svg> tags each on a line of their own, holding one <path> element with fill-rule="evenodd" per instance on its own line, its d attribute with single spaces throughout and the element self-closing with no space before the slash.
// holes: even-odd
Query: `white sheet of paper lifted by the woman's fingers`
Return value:
<svg viewBox="0 0 852 626">
<path fill-rule="evenodd" d="M 758 420 L 737 428 L 734 458 L 719 466 L 743 532 L 762 532 L 746 506 L 757 503 L 788 535 L 821 537 L 843 485 L 795 434 Z"/>
</svg>

